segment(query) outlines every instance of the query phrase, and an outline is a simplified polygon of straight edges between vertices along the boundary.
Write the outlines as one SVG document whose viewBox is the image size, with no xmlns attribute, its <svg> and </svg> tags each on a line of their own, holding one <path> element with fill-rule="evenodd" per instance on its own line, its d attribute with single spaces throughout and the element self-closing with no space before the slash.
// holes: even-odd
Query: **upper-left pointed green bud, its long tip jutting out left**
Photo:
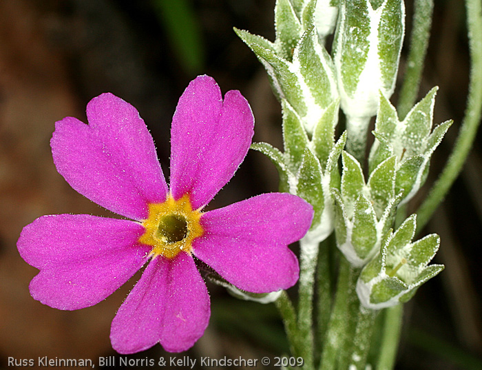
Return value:
<svg viewBox="0 0 482 370">
<path fill-rule="evenodd" d="M 337 101 L 337 83 L 331 56 L 319 43 L 313 25 L 316 1 L 293 3 L 276 2 L 275 42 L 247 31 L 235 32 L 266 68 L 277 98 L 293 107 L 311 134 L 319 118 Z"/>
</svg>

